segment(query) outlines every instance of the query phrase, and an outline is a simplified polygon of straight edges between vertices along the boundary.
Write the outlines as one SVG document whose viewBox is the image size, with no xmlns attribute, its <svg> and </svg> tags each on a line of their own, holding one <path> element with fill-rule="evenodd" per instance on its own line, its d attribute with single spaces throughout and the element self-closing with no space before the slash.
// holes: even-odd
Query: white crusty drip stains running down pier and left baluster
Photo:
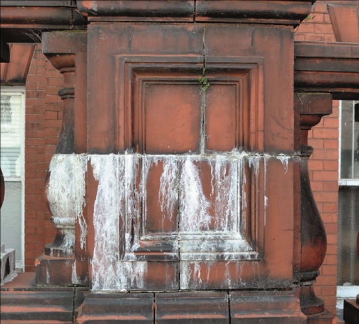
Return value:
<svg viewBox="0 0 359 324">
<path fill-rule="evenodd" d="M 158 197 L 162 230 L 165 220 L 177 221 L 179 214 L 173 253 L 180 251 L 180 289 L 189 289 L 193 280 L 206 285 L 203 276 L 208 282 L 211 262 L 226 261 L 228 270 L 230 262 L 256 259 L 256 252 L 241 234 L 246 228 L 246 193 L 248 181 L 259 179 L 261 169 L 266 187 L 267 161 L 272 158 L 279 159 L 285 172 L 288 171 L 290 156 L 236 150 L 214 155 L 55 155 L 47 194 L 53 202 L 54 216 L 65 216 L 73 221 L 73 227 L 78 221 L 80 245 L 86 249 L 87 223 L 82 210 L 86 204 L 85 176 L 90 161 L 98 181 L 93 206 L 92 289 L 119 291 L 146 289 L 148 263 L 136 252 L 144 239 L 142 218 L 150 217 L 147 195 Z M 149 171 L 159 163 L 162 171 L 158 192 L 148 192 Z M 203 166 L 208 169 L 207 177 Z M 250 175 L 252 179 L 248 179 Z M 263 203 L 266 210 L 266 195 Z M 69 233 L 66 244 L 73 244 L 74 234 L 71 230 Z M 203 262 L 207 269 L 202 274 Z M 76 265 L 73 270 L 76 283 Z M 224 278 L 223 285 L 230 286 L 231 277 Z"/>
</svg>

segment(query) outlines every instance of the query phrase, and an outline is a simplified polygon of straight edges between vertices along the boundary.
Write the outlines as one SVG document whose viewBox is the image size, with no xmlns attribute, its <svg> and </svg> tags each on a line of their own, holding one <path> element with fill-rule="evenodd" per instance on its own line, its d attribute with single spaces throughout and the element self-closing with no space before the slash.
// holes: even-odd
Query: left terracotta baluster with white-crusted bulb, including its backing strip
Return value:
<svg viewBox="0 0 359 324">
<path fill-rule="evenodd" d="M 86 33 L 45 33 L 43 53 L 62 73 L 64 86 L 59 90 L 63 101 L 61 133 L 45 179 L 45 197 L 57 234 L 36 260 L 36 282 L 84 283 L 88 273 L 83 246 L 86 238 L 77 233 L 75 225 L 83 221 L 84 205 L 83 194 L 76 190 L 79 163 L 82 170 L 86 164 L 81 155 L 86 151 Z"/>
</svg>

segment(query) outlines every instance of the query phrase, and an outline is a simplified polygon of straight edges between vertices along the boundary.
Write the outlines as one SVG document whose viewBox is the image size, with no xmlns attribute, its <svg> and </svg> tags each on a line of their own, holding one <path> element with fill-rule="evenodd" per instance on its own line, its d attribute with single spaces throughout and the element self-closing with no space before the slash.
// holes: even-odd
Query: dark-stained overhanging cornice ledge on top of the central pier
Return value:
<svg viewBox="0 0 359 324">
<path fill-rule="evenodd" d="M 298 26 L 314 1 L 137 0 L 77 1 L 89 21 L 187 21 L 266 23 Z"/>
</svg>

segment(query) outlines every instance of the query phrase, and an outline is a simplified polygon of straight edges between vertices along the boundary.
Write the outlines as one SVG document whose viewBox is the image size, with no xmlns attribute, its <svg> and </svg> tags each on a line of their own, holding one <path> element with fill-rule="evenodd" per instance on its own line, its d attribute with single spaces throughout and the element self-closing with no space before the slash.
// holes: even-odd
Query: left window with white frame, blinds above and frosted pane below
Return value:
<svg viewBox="0 0 359 324">
<path fill-rule="evenodd" d="M 1 168 L 5 198 L 1 241 L 15 248 L 16 268 L 23 268 L 25 151 L 25 87 L 1 87 Z"/>
</svg>

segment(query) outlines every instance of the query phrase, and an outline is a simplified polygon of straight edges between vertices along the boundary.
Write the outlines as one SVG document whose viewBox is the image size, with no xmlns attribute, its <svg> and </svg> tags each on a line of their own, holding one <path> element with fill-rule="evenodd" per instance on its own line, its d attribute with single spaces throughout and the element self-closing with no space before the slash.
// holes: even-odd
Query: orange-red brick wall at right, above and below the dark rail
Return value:
<svg viewBox="0 0 359 324">
<path fill-rule="evenodd" d="M 310 19 L 303 21 L 295 32 L 295 40 L 335 42 L 328 12 L 328 3 L 317 1 Z M 322 118 L 308 134 L 308 144 L 314 147 L 309 160 L 309 177 L 314 198 L 327 233 L 327 254 L 320 268 L 315 292 L 325 307 L 336 313 L 338 261 L 338 159 L 339 159 L 339 102 L 333 101 L 333 113 Z"/>
</svg>

